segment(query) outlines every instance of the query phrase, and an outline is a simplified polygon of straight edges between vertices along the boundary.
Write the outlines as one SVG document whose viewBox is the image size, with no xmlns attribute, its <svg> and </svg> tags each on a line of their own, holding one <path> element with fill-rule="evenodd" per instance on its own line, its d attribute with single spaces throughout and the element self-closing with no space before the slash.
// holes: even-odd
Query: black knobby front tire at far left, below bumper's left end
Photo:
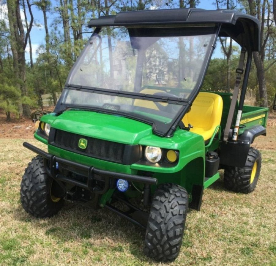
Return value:
<svg viewBox="0 0 276 266">
<path fill-rule="evenodd" d="M 56 214 L 63 199 L 53 195 L 53 184 L 57 185 L 46 173 L 43 157 L 37 155 L 25 169 L 21 181 L 20 199 L 25 211 L 38 218 Z"/>
</svg>

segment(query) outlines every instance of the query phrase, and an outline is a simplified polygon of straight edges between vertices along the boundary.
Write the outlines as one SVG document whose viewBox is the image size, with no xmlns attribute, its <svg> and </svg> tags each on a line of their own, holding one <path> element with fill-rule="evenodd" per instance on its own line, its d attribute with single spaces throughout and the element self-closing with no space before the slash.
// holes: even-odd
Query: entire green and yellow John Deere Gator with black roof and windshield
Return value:
<svg viewBox="0 0 276 266">
<path fill-rule="evenodd" d="M 148 257 L 174 260 L 188 206 L 200 209 L 219 169 L 228 189 L 256 187 L 261 155 L 251 144 L 266 134 L 268 109 L 243 103 L 259 22 L 235 10 L 167 9 L 88 27 L 94 33 L 35 133 L 48 152 L 23 144 L 38 154 L 23 175 L 23 208 L 49 217 L 63 200 L 89 202 L 143 227 Z M 200 92 L 219 36 L 241 46 L 233 94 Z"/>
</svg>

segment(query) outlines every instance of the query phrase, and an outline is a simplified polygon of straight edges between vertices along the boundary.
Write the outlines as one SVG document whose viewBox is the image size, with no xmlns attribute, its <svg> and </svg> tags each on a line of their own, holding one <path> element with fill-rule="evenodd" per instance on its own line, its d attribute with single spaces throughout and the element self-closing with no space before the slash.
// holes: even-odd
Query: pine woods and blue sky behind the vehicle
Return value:
<svg viewBox="0 0 276 266">
<path fill-rule="evenodd" d="M 255 64 L 251 66 L 248 91 L 254 104 L 271 107 L 276 88 L 276 0 L 209 2 L 210 9 L 236 9 L 259 19 L 261 50 L 253 53 Z M 12 113 L 29 117 L 31 108 L 43 109 L 44 94 L 50 95 L 50 102 L 56 105 L 69 70 L 90 36 L 86 32 L 91 29 L 86 25 L 91 18 L 130 10 L 193 8 L 199 3 L 200 0 L 0 0 L 0 6 L 7 7 L 6 13 L 5 8 L 0 9 L 0 110 L 5 111 L 8 121 Z M 33 60 L 35 9 L 44 19 L 45 39 Z M 47 19 L 53 13 L 59 16 L 49 25 Z M 220 38 L 219 43 L 222 56 L 211 60 L 202 89 L 230 92 L 240 48 L 230 38 Z"/>
</svg>

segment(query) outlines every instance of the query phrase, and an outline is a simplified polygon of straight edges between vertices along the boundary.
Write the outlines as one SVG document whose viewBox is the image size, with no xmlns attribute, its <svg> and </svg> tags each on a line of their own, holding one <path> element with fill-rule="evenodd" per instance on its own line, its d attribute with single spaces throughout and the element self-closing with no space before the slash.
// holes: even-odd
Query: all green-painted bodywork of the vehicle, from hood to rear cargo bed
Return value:
<svg viewBox="0 0 276 266">
<path fill-rule="evenodd" d="M 217 92 L 216 92 L 217 93 Z M 219 178 L 219 173 L 205 180 L 205 152 L 215 151 L 219 148 L 220 133 L 224 129 L 228 111 L 231 103 L 231 93 L 217 93 L 223 98 L 223 114 L 221 119 L 221 128 L 219 133 L 214 134 L 213 138 L 205 146 L 203 137 L 190 131 L 177 129 L 173 137 L 160 137 L 154 135 L 151 125 L 136 121 L 130 118 L 117 116 L 113 114 L 102 114 L 94 111 L 68 110 L 56 116 L 55 113 L 44 115 L 42 122 L 49 123 L 53 128 L 61 129 L 81 136 L 95 137 L 102 140 L 109 140 L 128 145 L 156 146 L 164 149 L 173 149 L 179 151 L 177 164 L 172 167 L 161 167 L 159 164 L 144 164 L 143 162 L 133 163 L 132 165 L 123 165 L 112 163 L 101 159 L 91 158 L 85 155 L 69 152 L 61 148 L 48 144 L 48 140 L 38 136 L 35 138 L 44 144 L 48 144 L 48 152 L 59 157 L 94 166 L 102 170 L 114 171 L 117 173 L 140 174 L 141 172 L 152 172 L 152 176 L 158 179 L 158 183 L 172 182 L 179 184 L 187 189 L 189 200 L 192 200 L 191 192 L 193 185 L 199 185 L 207 188 Z M 238 104 L 236 105 L 236 107 Z M 236 108 L 237 110 L 237 108 Z M 267 108 L 244 106 L 241 118 L 241 128 L 239 134 L 244 129 L 251 126 L 266 126 Z M 158 119 L 158 118 L 156 118 Z M 159 117 L 160 121 L 163 120 Z M 233 123 L 236 121 L 236 112 Z M 140 190 L 143 184 L 135 183 Z M 156 186 L 151 186 L 153 193 Z M 109 189 L 100 198 L 99 204 L 103 207 L 112 197 L 114 189 Z M 138 192 L 139 194 L 139 192 Z M 137 193 L 126 193 L 128 197 L 135 197 Z"/>
</svg>

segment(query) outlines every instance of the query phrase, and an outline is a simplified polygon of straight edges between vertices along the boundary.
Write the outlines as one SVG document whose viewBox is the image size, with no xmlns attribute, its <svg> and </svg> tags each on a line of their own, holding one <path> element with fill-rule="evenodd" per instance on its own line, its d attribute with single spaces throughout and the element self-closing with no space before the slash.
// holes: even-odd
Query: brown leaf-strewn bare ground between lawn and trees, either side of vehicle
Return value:
<svg viewBox="0 0 276 266">
<path fill-rule="evenodd" d="M 6 115 L 0 112 L 0 138 L 5 139 L 32 139 L 35 132 L 35 123 L 31 118 L 12 118 L 6 121 Z M 267 119 L 266 137 L 255 139 L 253 145 L 257 149 L 276 150 L 276 112 L 270 113 Z"/>
</svg>

